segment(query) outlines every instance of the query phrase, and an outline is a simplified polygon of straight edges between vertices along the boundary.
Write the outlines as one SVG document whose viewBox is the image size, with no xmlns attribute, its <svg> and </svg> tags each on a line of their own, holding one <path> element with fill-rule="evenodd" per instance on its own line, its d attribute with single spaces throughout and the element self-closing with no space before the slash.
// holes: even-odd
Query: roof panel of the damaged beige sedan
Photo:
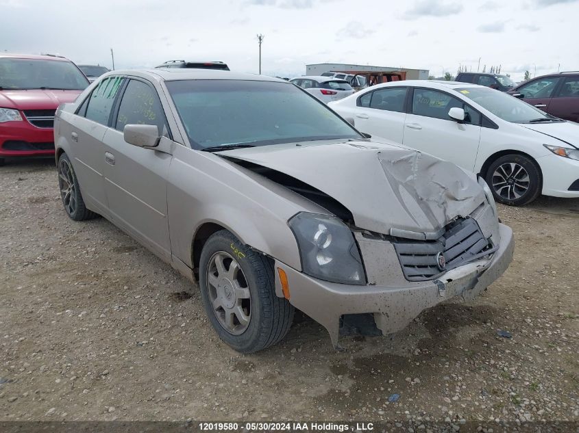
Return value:
<svg viewBox="0 0 579 433">
<path fill-rule="evenodd" d="M 156 81 L 216 79 L 216 80 L 245 80 L 245 81 L 277 81 L 280 83 L 288 82 L 283 79 L 268 77 L 267 75 L 242 74 L 231 72 L 230 70 L 214 70 L 214 69 L 188 69 L 188 68 L 124 69 L 124 70 L 113 70 L 110 73 L 101 75 L 101 77 L 109 77 L 110 75 L 133 75 L 135 77 L 155 79 Z"/>
</svg>

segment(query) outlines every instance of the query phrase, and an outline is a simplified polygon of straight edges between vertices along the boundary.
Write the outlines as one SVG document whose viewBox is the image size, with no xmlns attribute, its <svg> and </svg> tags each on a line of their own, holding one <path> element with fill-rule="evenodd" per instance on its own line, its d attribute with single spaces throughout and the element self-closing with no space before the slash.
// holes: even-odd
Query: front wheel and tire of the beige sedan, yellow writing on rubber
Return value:
<svg viewBox="0 0 579 433">
<path fill-rule="evenodd" d="M 219 338 L 234 350 L 258 352 L 281 341 L 291 328 L 293 305 L 275 295 L 274 281 L 269 259 L 229 231 L 214 233 L 204 245 L 201 298 Z"/>
</svg>

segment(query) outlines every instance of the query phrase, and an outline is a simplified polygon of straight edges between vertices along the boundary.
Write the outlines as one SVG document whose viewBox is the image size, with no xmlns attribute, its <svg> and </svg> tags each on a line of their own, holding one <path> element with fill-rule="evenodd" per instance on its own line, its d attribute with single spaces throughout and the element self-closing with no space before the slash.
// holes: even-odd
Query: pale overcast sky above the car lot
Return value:
<svg viewBox="0 0 579 433">
<path fill-rule="evenodd" d="M 78 64 L 222 60 L 232 70 L 304 75 L 352 63 L 453 75 L 502 65 L 515 80 L 579 70 L 579 0 L 0 0 L 0 51 Z"/>
</svg>

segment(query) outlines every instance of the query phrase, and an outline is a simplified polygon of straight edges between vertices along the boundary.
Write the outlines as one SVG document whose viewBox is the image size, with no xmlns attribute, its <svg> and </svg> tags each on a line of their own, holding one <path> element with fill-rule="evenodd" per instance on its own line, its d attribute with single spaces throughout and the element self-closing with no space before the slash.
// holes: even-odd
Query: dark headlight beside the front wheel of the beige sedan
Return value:
<svg viewBox="0 0 579 433">
<path fill-rule="evenodd" d="M 341 220 L 301 212 L 288 224 L 297 239 L 304 273 L 334 283 L 366 283 L 358 245 Z"/>
</svg>

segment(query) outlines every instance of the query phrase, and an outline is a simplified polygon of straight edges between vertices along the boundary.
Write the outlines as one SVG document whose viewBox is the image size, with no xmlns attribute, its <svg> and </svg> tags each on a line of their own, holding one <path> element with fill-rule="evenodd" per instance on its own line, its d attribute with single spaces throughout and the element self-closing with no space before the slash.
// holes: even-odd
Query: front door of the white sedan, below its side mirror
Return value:
<svg viewBox="0 0 579 433">
<path fill-rule="evenodd" d="M 456 122 L 448 116 L 452 107 L 465 109 L 465 122 Z M 413 88 L 403 143 L 473 171 L 480 144 L 481 117 L 470 105 L 447 92 Z"/>
</svg>

